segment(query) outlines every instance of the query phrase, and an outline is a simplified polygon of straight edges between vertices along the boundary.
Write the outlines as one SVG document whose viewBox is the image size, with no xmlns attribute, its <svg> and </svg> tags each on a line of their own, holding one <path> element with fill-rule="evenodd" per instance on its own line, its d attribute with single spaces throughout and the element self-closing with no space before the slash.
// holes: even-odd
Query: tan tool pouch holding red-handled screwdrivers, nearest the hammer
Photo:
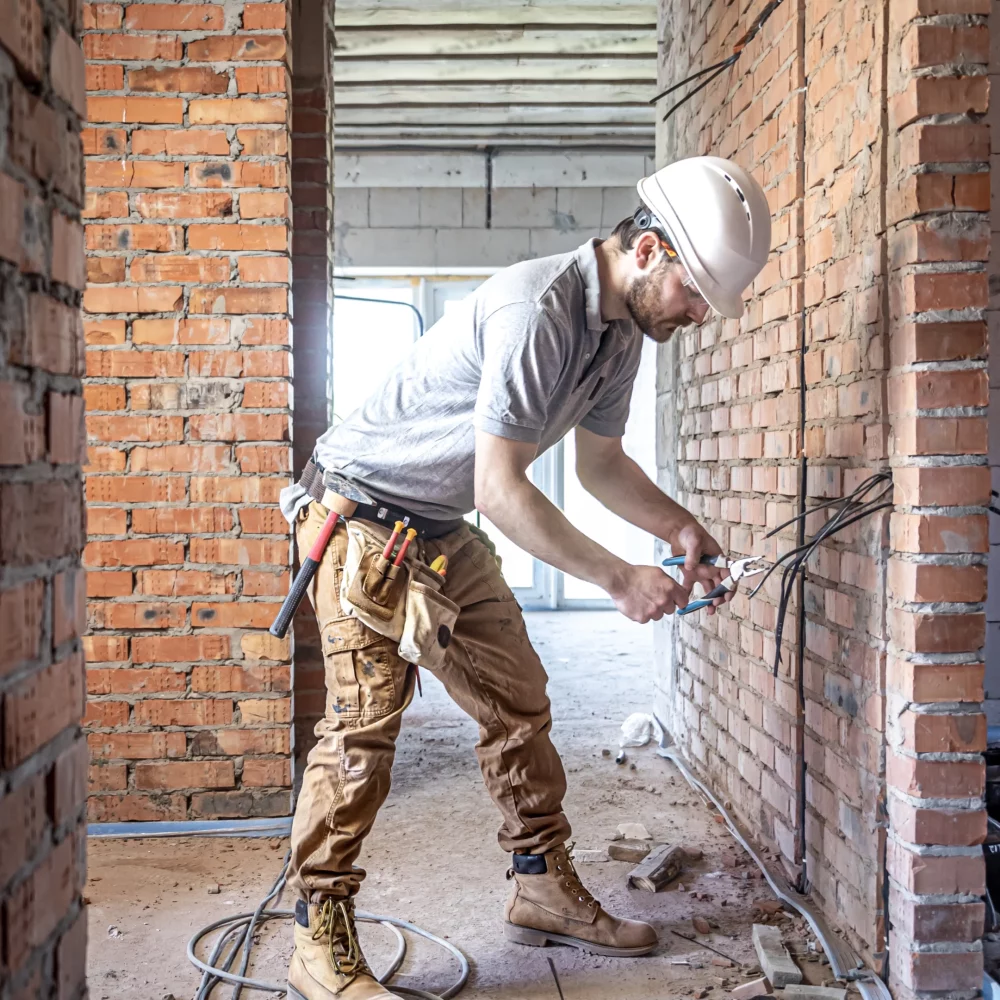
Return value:
<svg viewBox="0 0 1000 1000">
<path fill-rule="evenodd" d="M 391 566 L 382 555 L 385 542 L 362 523 L 347 523 L 347 555 L 340 581 L 340 603 L 370 629 L 393 642 L 403 636 L 408 569 Z"/>
</svg>

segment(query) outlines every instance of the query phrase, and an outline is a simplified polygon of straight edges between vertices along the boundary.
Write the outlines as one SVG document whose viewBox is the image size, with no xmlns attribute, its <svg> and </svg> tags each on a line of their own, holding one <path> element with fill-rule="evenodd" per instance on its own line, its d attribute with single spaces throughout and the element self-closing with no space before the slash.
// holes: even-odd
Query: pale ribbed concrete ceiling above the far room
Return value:
<svg viewBox="0 0 1000 1000">
<path fill-rule="evenodd" d="M 338 148 L 653 144 L 655 0 L 337 0 Z"/>
</svg>

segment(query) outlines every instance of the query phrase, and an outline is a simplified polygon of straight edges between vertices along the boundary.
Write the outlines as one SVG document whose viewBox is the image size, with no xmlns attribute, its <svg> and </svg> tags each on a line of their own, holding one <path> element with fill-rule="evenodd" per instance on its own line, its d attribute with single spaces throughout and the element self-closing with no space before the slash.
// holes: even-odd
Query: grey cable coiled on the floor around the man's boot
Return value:
<svg viewBox="0 0 1000 1000">
<path fill-rule="evenodd" d="M 202 972 L 201 985 L 195 994 L 195 1000 L 210 1000 L 212 991 L 222 982 L 233 984 L 233 1000 L 238 1000 L 244 989 L 264 990 L 268 993 L 285 992 L 286 987 L 284 983 L 268 983 L 261 979 L 254 979 L 247 976 L 246 972 L 250 965 L 250 952 L 254 945 L 254 931 L 257 927 L 265 920 L 288 919 L 295 916 L 294 910 L 268 910 L 265 908 L 271 900 L 281 895 L 285 887 L 285 875 L 287 871 L 288 856 L 286 855 L 285 863 L 277 880 L 252 913 L 236 913 L 229 917 L 223 917 L 221 920 L 216 920 L 214 923 L 207 924 L 188 942 L 188 961 Z M 465 984 L 469 980 L 469 960 L 450 941 L 445 941 L 436 934 L 431 934 L 430 931 L 425 931 L 422 927 L 417 927 L 416 924 L 411 924 L 407 920 L 400 920 L 397 917 L 383 917 L 361 910 L 357 912 L 356 917 L 362 923 L 382 924 L 382 926 L 387 927 L 396 935 L 396 952 L 389 963 L 389 968 L 378 979 L 383 986 L 399 971 L 400 966 L 403 964 L 403 959 L 406 956 L 406 938 L 402 934 L 404 930 L 422 937 L 432 944 L 444 948 L 446 951 L 450 951 L 458 960 L 459 977 L 443 993 L 428 993 L 424 990 L 411 989 L 405 986 L 392 987 L 392 991 L 398 996 L 415 997 L 417 1000 L 451 1000 L 451 997 L 457 996 L 465 987 Z M 196 949 L 203 938 L 216 930 L 221 931 L 219 938 L 212 948 L 208 961 L 203 962 L 195 954 Z M 226 950 L 227 945 L 230 944 L 232 946 L 228 954 L 220 962 L 223 952 Z M 240 963 L 240 971 L 239 973 L 234 973 L 230 970 L 236 956 L 241 950 L 243 952 L 243 960 Z"/>
</svg>

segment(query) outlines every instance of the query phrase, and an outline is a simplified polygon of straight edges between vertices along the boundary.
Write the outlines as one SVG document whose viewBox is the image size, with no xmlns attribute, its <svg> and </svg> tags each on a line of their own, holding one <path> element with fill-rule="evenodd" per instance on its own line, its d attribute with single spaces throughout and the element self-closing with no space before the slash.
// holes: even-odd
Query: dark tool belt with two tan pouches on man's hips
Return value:
<svg viewBox="0 0 1000 1000">
<path fill-rule="evenodd" d="M 310 461 L 299 483 L 322 502 L 326 490 L 322 466 Z M 385 539 L 369 525 L 392 526 L 397 521 L 428 538 L 440 537 L 465 523 L 461 519 L 435 521 L 388 504 L 359 504 L 346 522 L 340 604 L 345 613 L 399 643 L 404 660 L 434 669 L 444 662 L 459 607 L 441 592 L 444 576 L 419 558 L 418 550 L 407 547 L 402 562 L 393 565 L 392 547 L 387 548 Z M 399 541 L 402 545 L 402 538 Z"/>
</svg>

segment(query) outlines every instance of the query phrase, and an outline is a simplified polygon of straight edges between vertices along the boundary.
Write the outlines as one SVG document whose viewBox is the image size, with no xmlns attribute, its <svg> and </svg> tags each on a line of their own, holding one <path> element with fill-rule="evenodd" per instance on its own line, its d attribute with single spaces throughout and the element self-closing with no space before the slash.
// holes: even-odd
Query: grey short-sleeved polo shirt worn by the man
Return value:
<svg viewBox="0 0 1000 1000">
<path fill-rule="evenodd" d="M 577 425 L 621 437 L 642 333 L 601 320 L 598 242 L 484 282 L 316 442 L 317 460 L 378 500 L 448 519 L 475 506 L 476 428 L 539 455 Z M 282 491 L 290 521 L 306 502 Z"/>
</svg>

